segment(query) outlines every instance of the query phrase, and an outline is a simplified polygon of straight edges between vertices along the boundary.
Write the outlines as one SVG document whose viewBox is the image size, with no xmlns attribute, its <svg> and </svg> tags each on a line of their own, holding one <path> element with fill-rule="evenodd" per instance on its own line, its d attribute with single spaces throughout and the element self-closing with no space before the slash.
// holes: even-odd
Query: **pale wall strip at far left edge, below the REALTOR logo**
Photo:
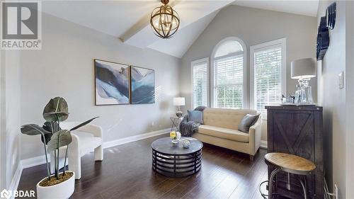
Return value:
<svg viewBox="0 0 354 199">
<path fill-rule="evenodd" d="M 20 162 L 20 52 L 1 50 L 0 190 L 10 188 Z"/>
</svg>

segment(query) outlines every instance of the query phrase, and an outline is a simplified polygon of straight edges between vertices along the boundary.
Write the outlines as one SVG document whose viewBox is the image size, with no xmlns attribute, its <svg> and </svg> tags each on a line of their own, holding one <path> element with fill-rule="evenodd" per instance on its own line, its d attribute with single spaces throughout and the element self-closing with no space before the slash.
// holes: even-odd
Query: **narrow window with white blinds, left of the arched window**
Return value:
<svg viewBox="0 0 354 199">
<path fill-rule="evenodd" d="M 193 108 L 207 106 L 207 61 L 193 62 Z"/>
</svg>

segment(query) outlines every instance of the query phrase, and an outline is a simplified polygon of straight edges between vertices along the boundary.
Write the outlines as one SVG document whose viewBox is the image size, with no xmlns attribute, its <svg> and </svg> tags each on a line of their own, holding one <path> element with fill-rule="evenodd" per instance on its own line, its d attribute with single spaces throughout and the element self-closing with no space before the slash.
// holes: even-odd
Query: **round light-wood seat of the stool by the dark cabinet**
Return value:
<svg viewBox="0 0 354 199">
<path fill-rule="evenodd" d="M 269 153 L 265 154 L 265 160 L 270 162 L 275 166 L 279 166 L 282 170 L 291 170 L 298 172 L 311 172 L 316 169 L 316 166 L 312 161 L 304 159 L 302 157 L 295 156 L 293 154 L 284 154 L 284 153 Z"/>
</svg>

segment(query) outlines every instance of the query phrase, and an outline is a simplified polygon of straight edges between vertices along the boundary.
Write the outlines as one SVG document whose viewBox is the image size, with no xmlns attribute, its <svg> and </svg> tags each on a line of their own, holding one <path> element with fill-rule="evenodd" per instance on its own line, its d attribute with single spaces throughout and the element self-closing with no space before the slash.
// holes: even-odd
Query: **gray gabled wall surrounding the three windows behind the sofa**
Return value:
<svg viewBox="0 0 354 199">
<path fill-rule="evenodd" d="M 190 108 L 190 62 L 210 57 L 217 43 L 227 37 L 237 37 L 247 47 L 247 96 L 249 98 L 249 48 L 270 40 L 287 38 L 287 93 L 295 92 L 297 81 L 290 79 L 290 62 L 295 59 L 315 57 L 316 18 L 290 13 L 265 11 L 242 6 L 223 8 L 198 40 L 182 57 L 181 95 L 186 97 L 185 108 Z M 314 100 L 316 101 L 316 79 L 312 79 Z M 266 127 L 263 127 L 266 129 Z M 263 130 L 262 140 L 266 140 Z"/>
</svg>

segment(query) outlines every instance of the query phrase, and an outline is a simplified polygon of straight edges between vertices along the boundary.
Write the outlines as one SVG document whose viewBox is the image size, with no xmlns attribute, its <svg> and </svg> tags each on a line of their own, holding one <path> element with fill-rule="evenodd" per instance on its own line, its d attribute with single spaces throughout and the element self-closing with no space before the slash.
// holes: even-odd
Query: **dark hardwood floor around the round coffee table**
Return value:
<svg viewBox="0 0 354 199">
<path fill-rule="evenodd" d="M 205 144 L 198 174 L 168 178 L 152 171 L 150 144 L 156 138 L 105 149 L 103 161 L 93 161 L 93 153 L 84 156 L 72 198 L 262 198 L 258 185 L 268 175 L 265 150 L 251 162 L 245 154 Z M 24 169 L 18 189 L 35 190 L 45 174 L 44 164 Z"/>
</svg>

